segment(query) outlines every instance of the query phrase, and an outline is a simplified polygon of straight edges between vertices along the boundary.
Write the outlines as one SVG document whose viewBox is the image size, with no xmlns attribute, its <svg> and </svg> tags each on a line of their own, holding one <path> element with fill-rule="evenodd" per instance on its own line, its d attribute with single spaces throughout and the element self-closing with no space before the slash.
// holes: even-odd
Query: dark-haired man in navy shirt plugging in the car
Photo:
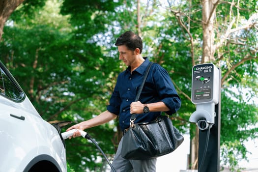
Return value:
<svg viewBox="0 0 258 172">
<path fill-rule="evenodd" d="M 175 91 L 168 72 L 157 63 L 154 63 L 149 71 L 139 101 L 134 102 L 150 61 L 148 58 L 142 57 L 142 39 L 132 31 L 126 31 L 120 35 L 115 45 L 118 48 L 119 59 L 123 60 L 128 67 L 118 75 L 107 111 L 76 124 L 67 131 L 74 128 L 85 130 L 119 116 L 119 125 L 124 134 L 130 126 L 131 114 L 137 114 L 135 123 L 149 122 L 161 115 L 161 112 L 172 115 L 180 108 L 181 99 Z M 77 131 L 73 137 L 78 136 L 80 133 Z M 116 172 L 156 171 L 156 159 L 127 160 L 122 158 L 122 140 L 123 138 L 118 145 L 113 161 Z"/>
</svg>

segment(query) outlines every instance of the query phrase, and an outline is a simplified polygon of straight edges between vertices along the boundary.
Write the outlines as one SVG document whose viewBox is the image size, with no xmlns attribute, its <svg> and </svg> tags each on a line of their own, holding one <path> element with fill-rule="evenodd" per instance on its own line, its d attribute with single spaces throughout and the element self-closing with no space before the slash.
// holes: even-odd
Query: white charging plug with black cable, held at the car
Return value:
<svg viewBox="0 0 258 172">
<path fill-rule="evenodd" d="M 99 145 L 96 143 L 96 141 L 94 141 L 94 140 L 89 136 L 89 134 L 86 133 L 85 131 L 83 131 L 83 130 L 78 130 L 78 129 L 72 129 L 72 130 L 63 132 L 63 133 L 61 134 L 61 135 L 62 135 L 62 138 L 63 138 L 63 139 L 67 139 L 67 138 L 73 136 L 74 132 L 76 132 L 76 131 L 79 131 L 79 132 L 81 133 L 81 136 L 82 136 L 83 138 L 90 140 L 91 142 L 93 142 L 93 143 L 97 146 L 97 148 L 100 150 L 100 152 L 102 153 L 102 155 L 104 156 L 104 158 L 105 158 L 106 161 L 108 162 L 108 164 L 109 164 L 109 166 L 111 167 L 112 171 L 113 171 L 113 172 L 116 172 L 116 171 L 115 171 L 115 168 L 114 168 L 113 165 L 110 163 L 108 157 L 105 155 L 105 153 L 104 153 L 103 150 L 100 148 L 100 146 L 99 146 Z"/>
</svg>

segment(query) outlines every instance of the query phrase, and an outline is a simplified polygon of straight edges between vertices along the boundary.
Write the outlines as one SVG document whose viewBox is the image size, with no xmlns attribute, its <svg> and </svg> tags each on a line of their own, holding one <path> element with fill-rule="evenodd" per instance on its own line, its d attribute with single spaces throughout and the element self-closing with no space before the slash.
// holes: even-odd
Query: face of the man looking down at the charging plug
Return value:
<svg viewBox="0 0 258 172">
<path fill-rule="evenodd" d="M 123 60 L 125 65 L 130 66 L 136 59 L 135 52 L 132 50 L 128 50 L 125 45 L 117 46 L 117 48 L 119 52 L 119 59 Z"/>
</svg>

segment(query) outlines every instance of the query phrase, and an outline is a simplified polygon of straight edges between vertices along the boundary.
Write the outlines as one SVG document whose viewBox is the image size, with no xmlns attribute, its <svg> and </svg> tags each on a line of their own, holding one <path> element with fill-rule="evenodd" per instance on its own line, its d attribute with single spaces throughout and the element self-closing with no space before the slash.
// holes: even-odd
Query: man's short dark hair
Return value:
<svg viewBox="0 0 258 172">
<path fill-rule="evenodd" d="M 126 31 L 123 34 L 121 34 L 117 38 L 115 45 L 116 46 L 125 45 L 129 50 L 132 50 L 132 51 L 134 51 L 136 48 L 139 48 L 140 54 L 142 54 L 142 51 L 143 51 L 142 38 L 132 31 Z"/>
</svg>

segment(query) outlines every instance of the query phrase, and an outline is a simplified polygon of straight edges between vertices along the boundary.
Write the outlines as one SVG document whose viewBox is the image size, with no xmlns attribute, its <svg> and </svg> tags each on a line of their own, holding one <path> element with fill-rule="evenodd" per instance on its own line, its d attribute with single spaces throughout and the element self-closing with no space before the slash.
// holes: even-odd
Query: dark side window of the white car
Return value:
<svg viewBox="0 0 258 172">
<path fill-rule="evenodd" d="M 0 74 L 0 94 L 15 101 L 21 100 L 24 96 L 23 92 L 15 86 L 2 69 Z"/>
</svg>

